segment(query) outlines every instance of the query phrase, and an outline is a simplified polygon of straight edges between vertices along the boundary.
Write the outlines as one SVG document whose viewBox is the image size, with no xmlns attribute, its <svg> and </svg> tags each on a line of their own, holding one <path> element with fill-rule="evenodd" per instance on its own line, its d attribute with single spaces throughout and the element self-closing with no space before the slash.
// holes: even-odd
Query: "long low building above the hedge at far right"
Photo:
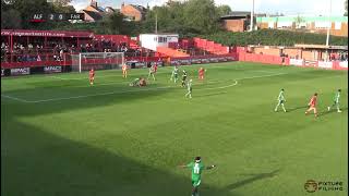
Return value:
<svg viewBox="0 0 349 196">
<path fill-rule="evenodd" d="M 326 34 L 330 21 L 330 35 L 348 37 L 348 16 L 273 16 L 256 17 L 257 27 L 298 29 Z"/>
</svg>

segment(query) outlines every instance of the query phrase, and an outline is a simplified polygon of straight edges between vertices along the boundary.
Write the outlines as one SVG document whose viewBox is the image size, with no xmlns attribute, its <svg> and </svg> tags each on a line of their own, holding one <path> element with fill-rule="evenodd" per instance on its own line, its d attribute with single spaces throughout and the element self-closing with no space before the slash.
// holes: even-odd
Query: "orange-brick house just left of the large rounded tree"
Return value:
<svg viewBox="0 0 349 196">
<path fill-rule="evenodd" d="M 142 21 L 145 16 L 146 9 L 137 4 L 121 4 L 120 12 L 130 21 Z"/>
</svg>

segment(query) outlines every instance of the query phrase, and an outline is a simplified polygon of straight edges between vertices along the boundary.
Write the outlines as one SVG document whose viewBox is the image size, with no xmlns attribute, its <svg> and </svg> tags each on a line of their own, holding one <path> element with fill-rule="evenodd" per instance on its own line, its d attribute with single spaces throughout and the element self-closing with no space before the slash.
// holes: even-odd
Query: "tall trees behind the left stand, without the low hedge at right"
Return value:
<svg viewBox="0 0 349 196">
<path fill-rule="evenodd" d="M 1 28 L 35 29 L 86 29 L 98 34 L 125 34 L 135 36 L 140 33 L 154 33 L 157 19 L 159 33 L 179 33 L 180 35 L 210 34 L 222 30 L 219 23 L 221 15 L 231 12 L 230 7 L 216 7 L 214 0 L 170 1 L 161 7 L 147 9 L 145 20 L 130 22 L 121 13 L 106 15 L 101 21 L 88 24 L 69 22 L 29 23 L 34 13 L 74 13 L 71 0 L 15 0 L 13 4 L 1 1 Z"/>
</svg>

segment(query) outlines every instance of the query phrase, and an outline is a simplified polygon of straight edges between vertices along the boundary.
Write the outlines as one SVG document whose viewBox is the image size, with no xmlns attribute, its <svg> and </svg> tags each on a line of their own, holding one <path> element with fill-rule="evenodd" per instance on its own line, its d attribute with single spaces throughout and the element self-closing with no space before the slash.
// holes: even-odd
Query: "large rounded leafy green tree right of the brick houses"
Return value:
<svg viewBox="0 0 349 196">
<path fill-rule="evenodd" d="M 157 15 L 159 33 L 178 33 L 180 36 L 208 34 L 219 30 L 219 16 L 228 12 L 229 7 L 218 9 L 213 0 L 169 1 L 147 12 L 142 32 L 154 33 Z"/>
</svg>

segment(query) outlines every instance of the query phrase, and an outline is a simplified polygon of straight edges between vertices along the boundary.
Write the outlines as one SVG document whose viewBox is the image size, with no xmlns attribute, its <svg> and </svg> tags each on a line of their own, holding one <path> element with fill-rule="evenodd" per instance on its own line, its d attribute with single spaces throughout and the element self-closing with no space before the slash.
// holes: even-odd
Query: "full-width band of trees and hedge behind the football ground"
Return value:
<svg viewBox="0 0 349 196">
<path fill-rule="evenodd" d="M 326 35 L 298 33 L 277 29 L 262 29 L 246 33 L 231 33 L 222 29 L 220 16 L 231 13 L 228 5 L 216 5 L 214 0 L 169 1 L 168 3 L 147 8 L 145 19 L 141 22 L 127 21 L 117 12 L 106 15 L 95 23 L 46 22 L 29 23 L 33 13 L 74 13 L 71 0 L 15 0 L 13 4 L 1 1 L 1 28 L 31 28 L 56 30 L 92 30 L 96 34 L 122 34 L 137 36 L 142 33 L 177 33 L 180 37 L 203 37 L 226 46 L 275 45 L 293 46 L 294 44 L 324 45 Z M 347 10 L 346 0 L 346 10 Z M 298 23 L 301 17 L 296 19 Z M 347 37 L 330 37 L 330 45 L 347 45 Z"/>
</svg>

